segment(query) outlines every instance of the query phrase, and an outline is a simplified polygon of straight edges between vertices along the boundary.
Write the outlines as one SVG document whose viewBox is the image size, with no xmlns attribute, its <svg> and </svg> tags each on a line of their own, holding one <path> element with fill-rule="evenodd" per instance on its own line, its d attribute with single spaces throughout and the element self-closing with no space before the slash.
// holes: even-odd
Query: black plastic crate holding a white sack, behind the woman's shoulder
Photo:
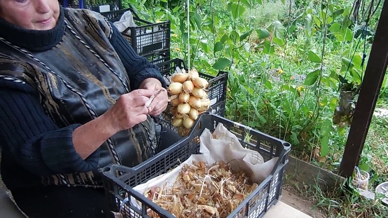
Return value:
<svg viewBox="0 0 388 218">
<path fill-rule="evenodd" d="M 124 9 L 119 11 L 104 12 L 101 15 L 107 17 L 110 21 L 120 20 L 120 17 L 130 11 L 137 27 L 129 27 L 122 32 L 123 36 L 129 41 L 136 53 L 144 56 L 154 52 L 170 49 L 170 21 L 166 20 L 160 23 L 151 23 L 141 19 L 133 9 Z"/>
</svg>

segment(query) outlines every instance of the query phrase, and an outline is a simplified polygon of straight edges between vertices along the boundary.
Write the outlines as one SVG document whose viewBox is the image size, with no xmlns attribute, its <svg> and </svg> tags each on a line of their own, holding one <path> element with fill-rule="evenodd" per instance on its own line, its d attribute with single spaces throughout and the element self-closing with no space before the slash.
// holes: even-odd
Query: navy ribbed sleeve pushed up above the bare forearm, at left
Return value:
<svg viewBox="0 0 388 218">
<path fill-rule="evenodd" d="M 1 147 L 28 171 L 51 175 L 97 166 L 98 150 L 85 160 L 75 151 L 72 135 L 80 124 L 55 125 L 31 86 L 0 80 L 0 111 Z"/>
</svg>

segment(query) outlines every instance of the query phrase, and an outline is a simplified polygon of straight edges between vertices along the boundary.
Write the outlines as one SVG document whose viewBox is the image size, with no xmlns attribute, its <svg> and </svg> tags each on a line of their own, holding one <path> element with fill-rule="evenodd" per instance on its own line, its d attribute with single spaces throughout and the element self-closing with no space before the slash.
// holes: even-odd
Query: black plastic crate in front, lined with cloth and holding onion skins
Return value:
<svg viewBox="0 0 388 218">
<path fill-rule="evenodd" d="M 285 167 L 288 163 L 291 144 L 209 112 L 200 115 L 187 138 L 178 141 L 142 164 L 134 168 L 117 164 L 103 168 L 104 187 L 110 209 L 120 212 L 124 218 L 149 218 L 147 209 L 157 212 L 160 217 L 173 218 L 173 215 L 132 187 L 167 173 L 187 160 L 192 154 L 199 154 L 199 136 L 202 131 L 208 128 L 213 132 L 218 123 L 222 123 L 230 131 L 236 132 L 242 146 L 258 151 L 263 156 L 264 161 L 279 157 L 271 174 L 228 216 L 228 218 L 262 217 L 281 198 Z M 246 134 L 255 140 L 245 140 Z M 131 201 L 128 201 L 130 197 L 140 202 L 142 208 L 138 209 Z"/>
</svg>

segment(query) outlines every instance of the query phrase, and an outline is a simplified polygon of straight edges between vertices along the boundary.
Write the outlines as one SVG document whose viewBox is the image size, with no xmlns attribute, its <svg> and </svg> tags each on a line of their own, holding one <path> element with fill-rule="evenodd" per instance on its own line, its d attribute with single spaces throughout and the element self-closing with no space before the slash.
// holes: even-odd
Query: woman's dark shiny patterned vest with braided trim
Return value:
<svg viewBox="0 0 388 218">
<path fill-rule="evenodd" d="M 88 10 L 64 9 L 65 34 L 55 47 L 30 52 L 0 38 L 0 77 L 34 87 L 47 116 L 59 127 L 85 124 L 130 92 L 123 63 L 109 42 L 110 24 Z M 153 156 L 155 125 L 148 119 L 118 132 L 100 146 L 94 171 L 44 177 L 46 185 L 100 187 L 98 170 L 109 163 L 133 167 Z"/>
</svg>

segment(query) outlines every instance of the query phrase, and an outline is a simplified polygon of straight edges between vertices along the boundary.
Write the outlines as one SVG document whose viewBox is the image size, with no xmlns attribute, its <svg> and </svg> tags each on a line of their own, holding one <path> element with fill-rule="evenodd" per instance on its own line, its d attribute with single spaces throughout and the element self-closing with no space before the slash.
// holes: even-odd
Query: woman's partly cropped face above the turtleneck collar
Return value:
<svg viewBox="0 0 388 218">
<path fill-rule="evenodd" d="M 59 13 L 58 0 L 0 0 L 0 17 L 30 30 L 54 28 Z"/>
</svg>

